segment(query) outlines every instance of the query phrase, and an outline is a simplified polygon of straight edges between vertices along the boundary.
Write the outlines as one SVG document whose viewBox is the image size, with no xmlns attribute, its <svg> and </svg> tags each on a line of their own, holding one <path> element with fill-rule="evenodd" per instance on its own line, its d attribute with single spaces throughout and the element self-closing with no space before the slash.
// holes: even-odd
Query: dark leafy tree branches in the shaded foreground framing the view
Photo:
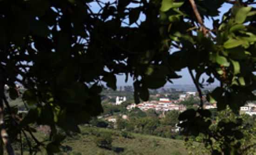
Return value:
<svg viewBox="0 0 256 155">
<path fill-rule="evenodd" d="M 223 3 L 232 8 L 222 15 Z M 148 89 L 180 78 L 188 68 L 201 107 L 180 115 L 187 134 L 208 133 L 210 112 L 203 110 L 202 87 L 220 81 L 208 94 L 218 110 L 238 113 L 255 99 L 255 0 L 0 0 L 0 150 L 13 155 L 18 135 L 33 137 L 30 153 L 59 151 L 58 128 L 79 132 L 78 125 L 100 114 L 102 82 L 116 89 L 116 75 L 131 76 L 135 102 L 148 100 Z M 93 9 L 93 7 L 98 9 Z M 142 18 L 143 17 L 143 18 Z M 213 21 L 212 28 L 203 19 Z M 209 79 L 200 81 L 202 74 Z M 33 105 L 24 118 L 10 107 L 18 93 Z M 39 142 L 31 124 L 51 128 L 51 143 Z M 202 126 L 198 129 L 196 126 Z M 234 147 L 236 148 L 236 147 Z M 233 148 L 233 149 L 234 149 Z M 230 149 L 230 148 L 229 148 Z"/>
</svg>

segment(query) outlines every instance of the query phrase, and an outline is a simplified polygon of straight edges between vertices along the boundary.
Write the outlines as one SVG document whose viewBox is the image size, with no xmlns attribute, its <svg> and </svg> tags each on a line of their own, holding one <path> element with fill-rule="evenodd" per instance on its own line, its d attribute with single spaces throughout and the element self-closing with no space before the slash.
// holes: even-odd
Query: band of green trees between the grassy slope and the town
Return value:
<svg viewBox="0 0 256 155">
<path fill-rule="evenodd" d="M 176 124 L 178 123 L 178 111 L 157 113 L 154 110 L 143 112 L 138 108 L 134 108 L 127 112 L 128 119 L 118 116 L 116 123 L 110 123 L 102 119 L 92 119 L 90 124 L 96 127 L 109 127 L 117 130 L 149 134 L 154 136 L 180 138 Z M 161 117 L 161 118 L 160 118 Z"/>
</svg>

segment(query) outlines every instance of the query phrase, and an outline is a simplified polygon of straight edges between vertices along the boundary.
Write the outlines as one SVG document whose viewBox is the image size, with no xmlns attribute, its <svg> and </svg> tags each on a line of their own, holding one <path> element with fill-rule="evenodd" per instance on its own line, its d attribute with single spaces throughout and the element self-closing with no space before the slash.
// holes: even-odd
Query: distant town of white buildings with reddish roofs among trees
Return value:
<svg viewBox="0 0 256 155">
<path fill-rule="evenodd" d="M 190 85 L 189 85 L 190 86 Z M 180 87 L 180 88 L 177 88 Z M 177 88 L 177 89 L 176 89 Z M 184 91 L 190 90 L 190 91 Z M 217 103 L 209 103 L 206 99 L 206 93 L 213 90 L 214 87 L 209 87 L 206 89 L 203 95 L 204 109 L 216 109 Z M 157 113 L 161 113 L 163 116 L 166 112 L 169 111 L 178 111 L 183 112 L 189 108 L 198 108 L 200 105 L 200 98 L 194 87 L 188 87 L 187 85 L 179 85 L 174 87 L 162 88 L 159 90 L 152 90 L 150 92 L 149 100 L 146 102 L 141 101 L 139 104 L 135 104 L 133 101 L 133 96 L 125 96 L 126 94 L 132 93 L 133 88 L 128 87 L 120 87 L 117 92 L 119 93 L 109 93 L 108 99 L 112 99 L 112 102 L 108 102 L 108 104 L 112 105 L 122 105 L 123 103 L 127 104 L 127 101 L 130 100 L 131 104 L 126 106 L 128 111 L 132 111 L 135 108 L 140 109 L 143 112 L 147 112 L 148 110 L 154 110 Z M 123 94 L 123 95 L 119 95 Z M 112 96 L 113 95 L 113 96 Z M 115 96 L 116 95 L 116 96 Z M 118 96 L 117 96 L 118 95 Z M 114 99 L 115 100 L 114 100 Z M 248 102 L 246 105 L 240 108 L 240 113 L 245 113 L 250 116 L 256 115 L 256 103 L 253 101 Z M 162 116 L 160 115 L 160 116 Z M 101 117 L 100 117 L 101 118 Z M 123 117 L 124 119 L 127 116 Z M 107 121 L 115 122 L 115 117 L 111 116 L 106 118 Z"/>
</svg>

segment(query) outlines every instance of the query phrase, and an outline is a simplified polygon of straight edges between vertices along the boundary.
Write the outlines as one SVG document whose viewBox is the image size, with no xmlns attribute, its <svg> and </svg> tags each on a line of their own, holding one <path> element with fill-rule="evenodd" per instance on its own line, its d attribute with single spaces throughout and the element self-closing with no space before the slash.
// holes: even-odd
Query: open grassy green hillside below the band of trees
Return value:
<svg viewBox="0 0 256 155">
<path fill-rule="evenodd" d="M 117 153 L 109 149 L 99 148 L 95 139 L 102 132 L 110 132 L 113 138 L 112 147 L 121 148 Z M 148 136 L 131 133 L 133 138 L 121 136 L 121 131 L 95 127 L 81 127 L 81 134 L 67 137 L 63 145 L 72 148 L 69 154 L 81 153 L 82 155 L 188 155 L 184 142 L 157 136 Z"/>
</svg>

